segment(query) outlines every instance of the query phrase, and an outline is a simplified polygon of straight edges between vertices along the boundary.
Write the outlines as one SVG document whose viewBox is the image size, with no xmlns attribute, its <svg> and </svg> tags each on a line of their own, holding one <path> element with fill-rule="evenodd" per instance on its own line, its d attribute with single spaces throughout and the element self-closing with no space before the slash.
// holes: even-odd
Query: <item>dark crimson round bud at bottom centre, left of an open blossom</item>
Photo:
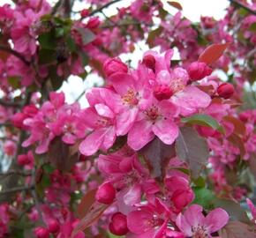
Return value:
<svg viewBox="0 0 256 238">
<path fill-rule="evenodd" d="M 109 224 L 109 231 L 112 234 L 116 234 L 116 235 L 127 234 L 129 230 L 127 227 L 126 216 L 121 212 L 115 213 L 111 218 L 111 222 Z"/>
</svg>

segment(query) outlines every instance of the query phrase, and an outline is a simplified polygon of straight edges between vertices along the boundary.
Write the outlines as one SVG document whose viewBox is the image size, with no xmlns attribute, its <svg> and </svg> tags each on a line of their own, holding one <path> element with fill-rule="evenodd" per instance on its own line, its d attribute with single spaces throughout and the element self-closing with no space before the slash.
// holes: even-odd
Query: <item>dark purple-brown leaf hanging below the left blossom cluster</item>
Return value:
<svg viewBox="0 0 256 238">
<path fill-rule="evenodd" d="M 72 152 L 72 147 L 64 144 L 60 137 L 54 138 L 49 145 L 49 162 L 57 169 L 69 171 L 79 160 L 78 152 Z"/>
</svg>

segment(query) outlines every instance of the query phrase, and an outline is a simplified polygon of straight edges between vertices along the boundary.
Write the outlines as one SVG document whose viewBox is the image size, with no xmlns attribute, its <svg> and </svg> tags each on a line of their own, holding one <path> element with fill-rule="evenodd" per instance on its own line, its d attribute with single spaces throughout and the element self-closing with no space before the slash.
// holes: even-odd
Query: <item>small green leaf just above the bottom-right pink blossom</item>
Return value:
<svg viewBox="0 0 256 238">
<path fill-rule="evenodd" d="M 202 205 L 206 209 L 211 209 L 213 207 L 213 199 L 215 195 L 211 190 L 206 188 L 194 188 L 195 199 L 193 200 L 193 204 Z"/>
</svg>

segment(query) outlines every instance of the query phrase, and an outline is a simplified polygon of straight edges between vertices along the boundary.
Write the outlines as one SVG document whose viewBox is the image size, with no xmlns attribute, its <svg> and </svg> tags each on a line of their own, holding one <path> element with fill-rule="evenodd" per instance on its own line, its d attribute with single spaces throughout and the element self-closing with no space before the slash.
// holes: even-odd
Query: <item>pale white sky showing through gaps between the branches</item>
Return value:
<svg viewBox="0 0 256 238">
<path fill-rule="evenodd" d="M 39 0 L 38 0 L 39 1 Z M 49 3 L 55 4 L 57 0 L 49 0 Z M 86 2 L 86 1 L 85 1 Z M 87 7 L 87 4 L 82 1 L 76 1 L 74 6 L 74 11 L 80 11 Z M 111 16 L 117 13 L 117 7 L 125 7 L 128 6 L 132 0 L 123 0 L 117 4 L 111 5 L 108 9 L 104 10 L 104 13 L 107 16 Z M 183 15 L 187 19 L 192 21 L 200 21 L 200 16 L 209 16 L 214 17 L 215 19 L 222 19 L 225 15 L 225 9 L 229 5 L 228 0 L 177 0 L 183 6 Z M 0 0 L 1 5 L 8 3 L 12 4 L 11 0 Z M 177 9 L 172 8 L 167 4 L 166 0 L 162 0 L 164 4 L 164 8 L 169 11 L 171 14 L 175 14 Z M 141 50 L 142 49 L 142 50 Z M 135 46 L 135 51 L 132 54 L 121 55 L 121 59 L 126 61 L 127 59 L 132 60 L 132 65 L 135 66 L 138 63 L 138 60 L 142 57 L 143 52 L 148 48 L 143 42 L 139 42 Z M 87 77 L 87 79 L 83 82 L 83 80 L 79 77 L 72 76 L 68 79 L 68 82 L 64 82 L 64 85 L 61 87 L 60 91 L 64 91 L 66 95 L 66 101 L 72 103 L 77 99 L 78 95 L 82 93 L 85 88 L 90 88 L 94 86 L 94 84 L 102 84 L 102 79 L 99 78 L 96 74 L 91 74 Z M 87 106 L 87 100 L 85 96 L 83 96 L 79 102 L 82 107 Z"/>
</svg>

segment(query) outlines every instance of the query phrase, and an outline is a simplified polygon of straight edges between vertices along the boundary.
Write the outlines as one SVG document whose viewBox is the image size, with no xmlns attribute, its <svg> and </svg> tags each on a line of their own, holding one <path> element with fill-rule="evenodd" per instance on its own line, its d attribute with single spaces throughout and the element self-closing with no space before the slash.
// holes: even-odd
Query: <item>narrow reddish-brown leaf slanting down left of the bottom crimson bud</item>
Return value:
<svg viewBox="0 0 256 238">
<path fill-rule="evenodd" d="M 98 202 L 94 202 L 88 210 L 86 216 L 80 219 L 77 227 L 72 232 L 72 237 L 75 237 L 80 231 L 84 231 L 87 227 L 91 227 L 94 222 L 101 218 L 102 213 L 109 207 L 109 205 L 103 205 Z"/>
</svg>

